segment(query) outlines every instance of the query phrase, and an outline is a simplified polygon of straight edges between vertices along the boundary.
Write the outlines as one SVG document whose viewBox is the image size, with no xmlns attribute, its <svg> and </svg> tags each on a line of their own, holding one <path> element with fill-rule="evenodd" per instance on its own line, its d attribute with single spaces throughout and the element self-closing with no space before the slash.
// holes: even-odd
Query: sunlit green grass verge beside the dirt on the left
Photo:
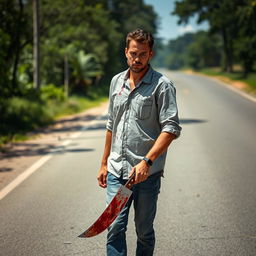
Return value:
<svg viewBox="0 0 256 256">
<path fill-rule="evenodd" d="M 27 133 L 51 124 L 67 115 L 76 114 L 96 107 L 106 101 L 105 90 L 96 89 L 85 96 L 73 95 L 63 101 L 48 99 L 45 102 L 14 97 L 6 102 L 5 120 L 0 125 L 0 151 L 9 142 L 25 141 L 31 136 Z"/>
</svg>

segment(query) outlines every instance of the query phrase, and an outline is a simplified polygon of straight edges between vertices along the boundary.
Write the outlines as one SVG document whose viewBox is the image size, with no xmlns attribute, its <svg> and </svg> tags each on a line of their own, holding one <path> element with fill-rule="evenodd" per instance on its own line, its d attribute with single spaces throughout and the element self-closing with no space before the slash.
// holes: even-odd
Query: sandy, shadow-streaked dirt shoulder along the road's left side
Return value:
<svg viewBox="0 0 256 256">
<path fill-rule="evenodd" d="M 0 152 L 0 191 L 52 150 L 63 150 L 63 143 L 103 115 L 107 105 L 108 102 L 103 102 L 98 107 L 64 116 L 52 125 L 28 133 L 25 141 L 6 144 Z"/>
</svg>

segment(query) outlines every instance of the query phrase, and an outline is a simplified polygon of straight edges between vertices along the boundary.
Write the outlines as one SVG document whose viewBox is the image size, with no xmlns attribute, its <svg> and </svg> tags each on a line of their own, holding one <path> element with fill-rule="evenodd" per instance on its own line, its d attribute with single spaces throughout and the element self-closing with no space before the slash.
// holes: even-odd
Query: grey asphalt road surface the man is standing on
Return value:
<svg viewBox="0 0 256 256">
<path fill-rule="evenodd" d="M 205 77 L 165 73 L 177 88 L 183 131 L 162 179 L 155 255 L 255 256 L 256 103 Z M 56 148 L 0 201 L 1 256 L 105 255 L 106 232 L 77 238 L 105 207 L 96 181 L 105 119 Z M 132 256 L 132 209 L 127 241 Z"/>
</svg>

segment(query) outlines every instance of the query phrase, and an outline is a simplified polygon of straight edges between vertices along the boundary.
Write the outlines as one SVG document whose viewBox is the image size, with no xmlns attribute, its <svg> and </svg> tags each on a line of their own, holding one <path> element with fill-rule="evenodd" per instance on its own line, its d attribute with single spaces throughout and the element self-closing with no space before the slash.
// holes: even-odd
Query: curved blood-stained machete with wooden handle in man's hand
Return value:
<svg viewBox="0 0 256 256">
<path fill-rule="evenodd" d="M 129 200 L 132 191 L 130 190 L 135 182 L 135 172 L 130 179 L 122 185 L 117 191 L 116 195 L 111 200 L 110 204 L 101 214 L 101 216 L 81 235 L 78 237 L 86 238 L 100 234 L 107 229 L 112 222 L 116 219 L 119 213 L 122 211 L 127 201 Z"/>
</svg>

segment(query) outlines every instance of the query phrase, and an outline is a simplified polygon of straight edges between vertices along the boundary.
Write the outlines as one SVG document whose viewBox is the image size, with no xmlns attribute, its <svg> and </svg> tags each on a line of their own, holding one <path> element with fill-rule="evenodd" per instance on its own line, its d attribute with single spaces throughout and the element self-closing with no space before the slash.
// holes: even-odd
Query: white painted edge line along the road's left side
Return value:
<svg viewBox="0 0 256 256">
<path fill-rule="evenodd" d="M 104 112 L 102 116 L 106 115 L 107 112 Z M 101 116 L 100 116 L 101 117 Z M 83 131 L 88 130 L 88 126 L 94 125 L 97 123 L 97 121 L 100 120 L 100 117 L 96 118 L 95 120 L 92 120 L 88 123 L 87 126 L 83 127 L 81 131 L 73 133 L 70 136 L 70 139 L 65 140 L 63 143 L 61 143 L 61 146 L 67 146 L 72 142 L 72 139 L 78 138 Z M 31 165 L 27 170 L 25 170 L 23 173 L 21 173 L 18 177 L 16 177 L 11 183 L 9 183 L 7 186 L 5 186 L 0 191 L 0 200 L 2 200 L 5 196 L 7 196 L 12 190 L 14 190 L 17 186 L 19 186 L 24 180 L 26 180 L 30 175 L 32 175 L 35 171 L 37 171 L 41 166 L 43 166 L 48 160 L 50 160 L 53 157 L 53 153 L 55 151 L 52 151 L 48 153 L 47 155 L 41 157 L 38 161 L 36 161 L 33 165 Z"/>
</svg>

